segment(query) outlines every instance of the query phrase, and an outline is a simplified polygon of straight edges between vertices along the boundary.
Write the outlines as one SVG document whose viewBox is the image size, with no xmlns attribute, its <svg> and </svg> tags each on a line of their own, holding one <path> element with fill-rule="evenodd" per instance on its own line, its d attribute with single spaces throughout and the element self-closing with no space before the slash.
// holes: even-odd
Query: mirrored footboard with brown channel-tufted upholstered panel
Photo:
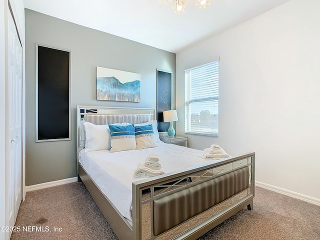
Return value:
<svg viewBox="0 0 320 240">
<path fill-rule="evenodd" d="M 132 183 L 135 239 L 196 239 L 253 207 L 254 152 Z"/>
</svg>

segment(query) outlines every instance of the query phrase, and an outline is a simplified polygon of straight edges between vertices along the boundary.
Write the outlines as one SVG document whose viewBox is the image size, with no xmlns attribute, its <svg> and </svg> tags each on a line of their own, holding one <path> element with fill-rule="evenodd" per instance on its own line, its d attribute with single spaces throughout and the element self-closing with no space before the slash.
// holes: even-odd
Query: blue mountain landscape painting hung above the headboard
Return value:
<svg viewBox="0 0 320 240">
<path fill-rule="evenodd" d="M 140 74 L 96 67 L 96 99 L 140 101 Z"/>
</svg>

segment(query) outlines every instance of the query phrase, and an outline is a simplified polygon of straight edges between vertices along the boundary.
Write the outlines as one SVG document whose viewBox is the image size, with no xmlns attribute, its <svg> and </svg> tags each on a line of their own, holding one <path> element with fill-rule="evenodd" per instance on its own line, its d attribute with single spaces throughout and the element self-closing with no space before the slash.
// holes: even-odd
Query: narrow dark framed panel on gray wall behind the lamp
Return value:
<svg viewBox="0 0 320 240">
<path fill-rule="evenodd" d="M 169 122 L 163 122 L 163 111 L 172 107 L 172 72 L 156 69 L 156 112 L 158 131 L 169 128 Z"/>
</svg>

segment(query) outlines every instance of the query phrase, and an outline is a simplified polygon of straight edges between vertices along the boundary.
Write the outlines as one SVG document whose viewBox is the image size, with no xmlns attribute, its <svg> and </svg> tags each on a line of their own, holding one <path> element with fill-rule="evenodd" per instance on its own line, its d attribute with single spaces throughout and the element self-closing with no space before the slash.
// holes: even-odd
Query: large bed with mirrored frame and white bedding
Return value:
<svg viewBox="0 0 320 240">
<path fill-rule="evenodd" d="M 78 180 L 120 240 L 196 239 L 240 209 L 253 208 L 254 152 L 212 161 L 200 150 L 162 143 L 152 108 L 77 106 L 76 115 Z M 85 124 L 124 122 L 152 125 L 156 147 L 84 149 Z M 163 158 L 165 174 L 137 178 L 136 163 L 150 153 Z"/>
</svg>

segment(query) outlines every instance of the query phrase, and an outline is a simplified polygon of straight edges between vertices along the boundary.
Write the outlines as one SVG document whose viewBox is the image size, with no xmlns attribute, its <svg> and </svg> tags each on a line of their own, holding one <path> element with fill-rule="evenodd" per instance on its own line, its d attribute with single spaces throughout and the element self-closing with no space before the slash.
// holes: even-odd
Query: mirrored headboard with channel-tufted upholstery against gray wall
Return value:
<svg viewBox="0 0 320 240">
<path fill-rule="evenodd" d="M 129 122 L 132 124 L 155 120 L 154 108 L 129 108 L 107 106 L 76 107 L 76 147 L 77 151 L 84 147 L 84 122 L 96 125 Z"/>
</svg>

